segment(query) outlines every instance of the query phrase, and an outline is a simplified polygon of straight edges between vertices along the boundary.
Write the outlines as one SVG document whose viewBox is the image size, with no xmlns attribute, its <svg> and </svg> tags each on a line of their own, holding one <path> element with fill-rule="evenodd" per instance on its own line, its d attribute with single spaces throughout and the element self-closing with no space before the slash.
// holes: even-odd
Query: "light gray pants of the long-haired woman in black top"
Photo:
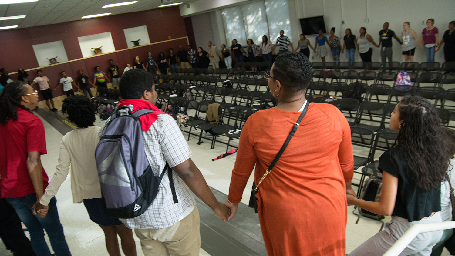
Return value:
<svg viewBox="0 0 455 256">
<path fill-rule="evenodd" d="M 392 216 L 392 220 L 385 223 L 383 231 L 378 232 L 355 248 L 349 256 L 382 256 L 412 225 L 440 221 L 442 219 L 439 212 L 430 218 L 412 222 L 398 216 Z M 433 246 L 441 239 L 442 233 L 443 231 L 439 230 L 418 234 L 399 256 L 430 256 Z"/>
</svg>

